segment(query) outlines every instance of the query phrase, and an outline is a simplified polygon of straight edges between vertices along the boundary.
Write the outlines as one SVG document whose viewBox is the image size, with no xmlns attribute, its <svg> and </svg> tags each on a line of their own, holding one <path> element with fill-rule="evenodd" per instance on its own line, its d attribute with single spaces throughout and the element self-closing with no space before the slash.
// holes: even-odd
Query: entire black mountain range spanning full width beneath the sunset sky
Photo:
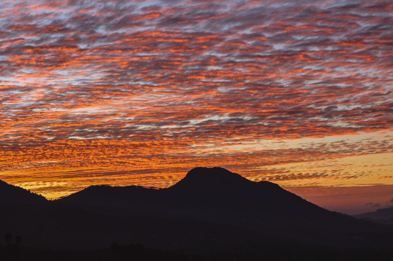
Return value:
<svg viewBox="0 0 393 261">
<path fill-rule="evenodd" d="M 218 167 L 192 169 L 169 188 L 94 185 L 48 201 L 1 182 L 0 196 L 0 236 L 19 234 L 37 247 L 97 249 L 118 242 L 189 252 L 262 253 L 304 244 L 393 249 L 393 226 L 331 212 L 277 184 Z"/>
</svg>

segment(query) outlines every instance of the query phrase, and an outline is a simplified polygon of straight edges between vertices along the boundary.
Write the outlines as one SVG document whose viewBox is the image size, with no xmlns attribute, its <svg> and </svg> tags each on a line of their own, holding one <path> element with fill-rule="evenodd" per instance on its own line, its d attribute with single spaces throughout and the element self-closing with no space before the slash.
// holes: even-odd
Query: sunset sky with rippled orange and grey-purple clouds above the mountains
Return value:
<svg viewBox="0 0 393 261">
<path fill-rule="evenodd" d="M 0 1 L 0 179 L 48 199 L 218 166 L 356 214 L 392 152 L 392 1 Z"/>
</svg>

